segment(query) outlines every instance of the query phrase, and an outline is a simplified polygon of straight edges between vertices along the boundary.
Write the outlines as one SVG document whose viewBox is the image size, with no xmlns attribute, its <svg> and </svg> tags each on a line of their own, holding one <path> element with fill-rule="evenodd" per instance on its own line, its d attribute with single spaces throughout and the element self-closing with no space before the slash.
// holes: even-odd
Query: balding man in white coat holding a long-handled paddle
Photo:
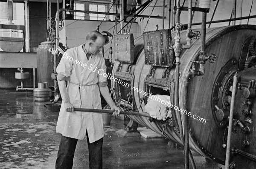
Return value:
<svg viewBox="0 0 256 169">
<path fill-rule="evenodd" d="M 87 42 L 81 46 L 68 49 L 56 69 L 62 97 L 56 127 L 56 131 L 62 134 L 56 169 L 72 169 L 77 140 L 85 137 L 89 149 L 90 169 L 102 169 L 102 114 L 76 112 L 74 107 L 102 109 L 101 93 L 111 109 L 115 110 L 113 115 L 120 113 L 109 94 L 107 79 L 100 75 L 103 74 L 102 71 L 106 72 L 105 59 L 100 53 L 105 38 L 100 32 L 92 31 L 87 34 L 86 39 Z M 74 60 L 84 64 L 76 64 Z"/>
</svg>

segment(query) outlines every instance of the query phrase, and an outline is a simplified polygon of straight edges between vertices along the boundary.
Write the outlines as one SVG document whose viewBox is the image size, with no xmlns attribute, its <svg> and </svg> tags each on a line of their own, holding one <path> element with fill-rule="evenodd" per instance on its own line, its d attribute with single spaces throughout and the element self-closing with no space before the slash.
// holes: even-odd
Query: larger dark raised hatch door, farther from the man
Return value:
<svg viewBox="0 0 256 169">
<path fill-rule="evenodd" d="M 145 64 L 172 67 L 172 34 L 170 29 L 144 32 Z"/>
</svg>

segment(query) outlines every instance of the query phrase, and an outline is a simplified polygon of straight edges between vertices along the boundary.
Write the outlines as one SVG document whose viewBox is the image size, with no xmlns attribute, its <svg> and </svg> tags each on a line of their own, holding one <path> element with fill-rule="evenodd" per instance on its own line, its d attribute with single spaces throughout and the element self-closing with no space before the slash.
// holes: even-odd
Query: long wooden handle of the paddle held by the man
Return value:
<svg viewBox="0 0 256 169">
<path fill-rule="evenodd" d="M 112 114 L 113 112 L 115 112 L 114 110 L 84 109 L 84 108 L 76 108 L 76 107 L 75 107 L 75 111 L 78 111 L 78 112 L 93 112 L 93 113 L 109 113 L 109 114 Z M 148 115 L 148 113 L 146 113 L 146 112 L 144 112 L 144 113 L 140 113 L 140 112 L 120 112 L 120 114 L 121 115 L 138 115 L 138 116 L 143 116 L 143 117 L 149 117 L 150 118 L 150 115 Z"/>
</svg>

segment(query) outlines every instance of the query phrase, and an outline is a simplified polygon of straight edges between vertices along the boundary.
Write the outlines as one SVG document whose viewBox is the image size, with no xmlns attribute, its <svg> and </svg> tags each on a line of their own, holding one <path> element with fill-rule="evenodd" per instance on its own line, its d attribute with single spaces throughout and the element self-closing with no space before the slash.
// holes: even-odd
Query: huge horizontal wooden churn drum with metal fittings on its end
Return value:
<svg viewBox="0 0 256 169">
<path fill-rule="evenodd" d="M 181 43 L 186 43 L 186 31 L 180 34 L 182 37 Z M 203 76 L 195 76 L 190 79 L 187 95 L 184 92 L 184 77 L 192 68 L 193 63 L 191 61 L 198 60 L 201 39 L 193 39 L 191 48 L 184 49 L 180 55 L 180 108 L 183 108 L 184 103 L 182 98 L 185 95 L 186 111 L 206 120 L 203 123 L 200 120 L 189 118 L 189 146 L 199 154 L 218 163 L 224 164 L 226 154 L 227 112 L 229 112 L 230 106 L 232 77 L 236 71 L 243 72 L 245 69 L 248 69 L 248 65 L 254 63 L 252 61 L 254 56 L 250 56 L 251 53 L 248 51 L 250 50 L 250 44 L 254 43 L 251 40 L 255 34 L 256 26 L 251 25 L 207 29 L 206 52 L 207 54 L 215 54 L 217 60 L 215 63 L 207 62 L 205 64 L 205 73 Z M 172 33 L 172 37 L 175 37 L 175 33 Z M 145 54 L 141 46 L 143 44 L 143 38 L 137 39 L 134 44 L 135 62 L 132 64 L 116 62 L 113 66 L 112 74 L 115 77 L 126 80 L 125 82 L 130 83 L 132 86 L 144 92 L 152 92 L 153 95 L 169 95 L 171 97 L 171 103 L 174 103 L 175 65 L 167 69 L 167 67 L 145 64 Z M 249 63 L 250 61 L 251 63 Z M 196 64 L 195 68 L 199 69 L 199 64 Z M 255 74 L 255 72 L 253 73 Z M 243 79 L 242 77 L 245 74 L 249 73 L 240 73 L 241 79 Z M 254 78 L 252 74 L 250 74 L 250 78 Z M 253 89 L 253 87 L 251 88 Z M 251 88 L 249 89 L 248 87 L 248 90 L 244 92 L 246 93 L 244 94 L 246 97 L 253 95 L 250 93 L 252 91 Z M 114 89 L 115 99 L 126 109 L 139 112 L 145 111 L 144 106 L 147 103 L 148 96 L 128 87 L 124 88 L 124 86 L 114 81 L 112 81 L 112 89 Z M 255 112 L 256 105 L 251 101 L 253 106 L 250 105 L 250 111 L 248 111 L 248 107 L 240 108 L 243 107 L 242 104 L 246 104 L 240 98 L 242 97 L 242 92 L 238 92 L 236 97 L 240 102 L 236 103 L 235 109 L 241 111 L 234 112 L 236 113 L 234 116 L 236 120 L 240 120 L 240 126 L 235 123 L 237 126 L 236 130 L 232 133 L 231 146 L 236 147 L 239 151 L 234 152 L 238 155 L 232 155 L 230 162 L 235 163 L 239 169 L 256 168 L 255 162 L 249 160 L 252 159 L 251 157 L 254 157 L 250 155 L 256 154 L 256 141 L 254 141 L 256 140 L 256 132 L 253 130 L 253 122 L 256 121 L 256 117 L 253 115 L 248 116 L 250 113 L 247 113 L 250 111 L 253 112 L 253 110 Z M 244 115 L 242 112 L 244 112 Z M 163 134 L 164 137 L 181 143 L 178 133 L 177 115 L 176 113 L 172 114 L 173 124 L 167 127 Z M 180 114 L 183 117 L 183 113 Z M 150 122 L 146 117 L 129 117 L 157 133 L 161 134 L 163 132 L 163 121 L 161 120 Z M 250 130 L 250 132 L 247 130 Z M 253 160 L 255 161 L 256 159 L 253 158 Z"/>
</svg>

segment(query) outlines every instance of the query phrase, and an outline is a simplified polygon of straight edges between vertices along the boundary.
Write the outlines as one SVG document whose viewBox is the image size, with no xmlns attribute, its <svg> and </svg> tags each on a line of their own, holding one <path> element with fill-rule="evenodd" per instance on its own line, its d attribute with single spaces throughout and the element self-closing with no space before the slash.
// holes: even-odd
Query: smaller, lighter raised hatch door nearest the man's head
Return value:
<svg viewBox="0 0 256 169">
<path fill-rule="evenodd" d="M 133 34 L 115 35 L 115 60 L 122 63 L 134 63 Z"/>
</svg>

